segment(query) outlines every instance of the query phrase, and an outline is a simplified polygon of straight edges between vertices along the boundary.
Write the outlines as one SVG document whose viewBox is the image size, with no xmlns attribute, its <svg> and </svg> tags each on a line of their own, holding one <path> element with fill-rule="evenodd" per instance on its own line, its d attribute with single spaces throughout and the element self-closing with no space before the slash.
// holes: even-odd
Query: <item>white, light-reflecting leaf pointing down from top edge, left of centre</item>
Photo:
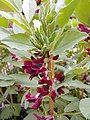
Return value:
<svg viewBox="0 0 90 120">
<path fill-rule="evenodd" d="M 35 0 L 23 0 L 23 12 L 25 14 L 26 20 L 30 23 L 32 20 L 35 10 L 36 10 L 36 2 Z"/>
</svg>

